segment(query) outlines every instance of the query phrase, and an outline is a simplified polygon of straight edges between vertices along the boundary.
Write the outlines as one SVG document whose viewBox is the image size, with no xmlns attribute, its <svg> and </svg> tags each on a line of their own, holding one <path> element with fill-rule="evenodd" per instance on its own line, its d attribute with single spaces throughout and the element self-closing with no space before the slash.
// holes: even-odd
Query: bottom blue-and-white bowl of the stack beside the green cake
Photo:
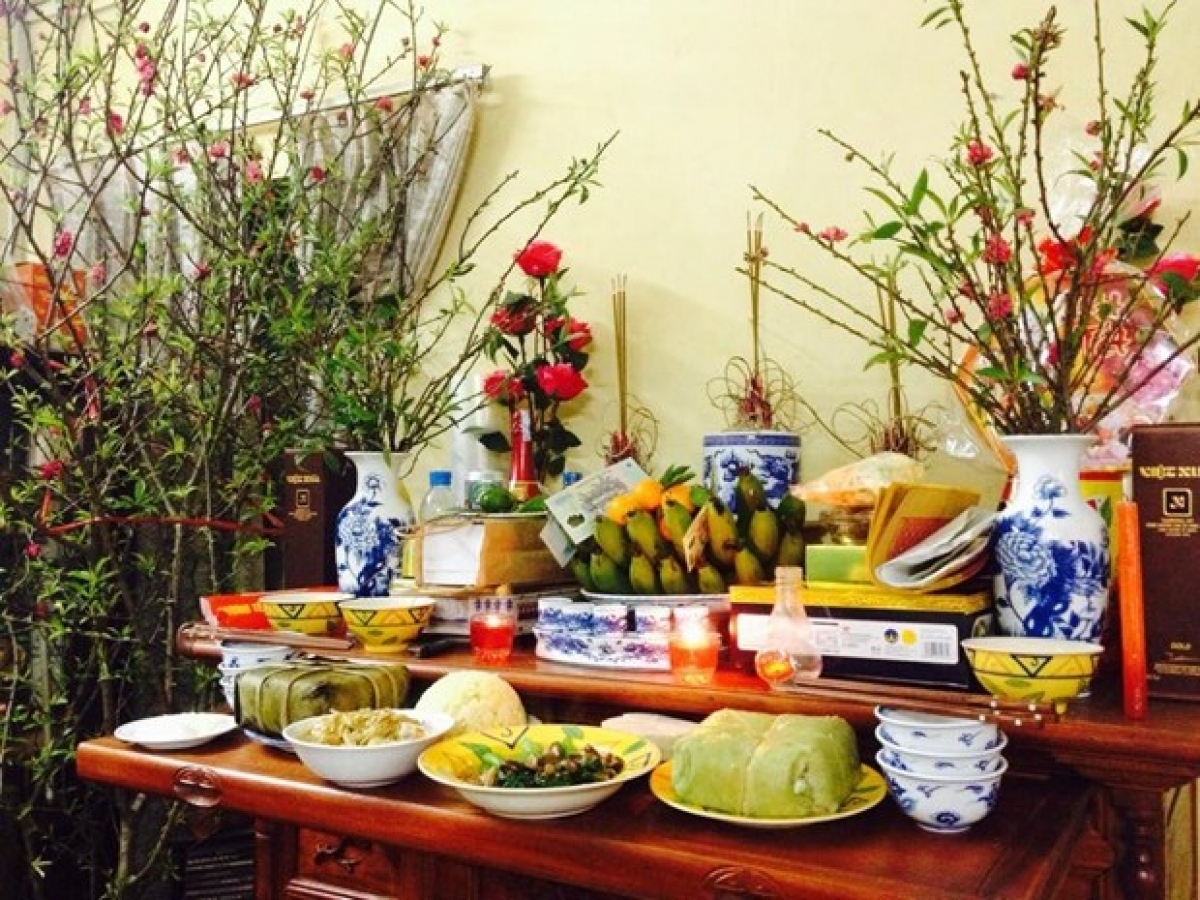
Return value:
<svg viewBox="0 0 1200 900">
<path fill-rule="evenodd" d="M 900 810 L 920 828 L 936 834 L 958 834 L 983 821 L 996 808 L 1007 762 L 986 774 L 922 775 L 890 766 L 884 751 L 875 755 L 888 793 Z"/>
</svg>

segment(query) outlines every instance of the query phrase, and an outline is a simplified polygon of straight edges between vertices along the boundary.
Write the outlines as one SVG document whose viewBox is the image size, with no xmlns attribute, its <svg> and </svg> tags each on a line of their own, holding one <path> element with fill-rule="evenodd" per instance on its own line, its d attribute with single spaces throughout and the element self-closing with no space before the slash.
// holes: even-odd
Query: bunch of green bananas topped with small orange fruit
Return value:
<svg viewBox="0 0 1200 900">
<path fill-rule="evenodd" d="M 737 481 L 734 514 L 707 488 L 682 485 L 678 468 L 668 469 L 674 478 L 656 505 L 617 504 L 596 520 L 570 564 L 584 589 L 722 594 L 730 584 L 770 581 L 779 565 L 804 564 L 803 500 L 787 494 L 773 508 L 748 472 Z"/>
</svg>

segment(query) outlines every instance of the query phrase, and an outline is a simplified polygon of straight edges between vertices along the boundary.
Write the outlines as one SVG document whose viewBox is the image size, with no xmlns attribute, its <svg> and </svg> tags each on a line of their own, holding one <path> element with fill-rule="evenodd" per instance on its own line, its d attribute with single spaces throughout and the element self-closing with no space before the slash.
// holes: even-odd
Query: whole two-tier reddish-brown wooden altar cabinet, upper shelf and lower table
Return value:
<svg viewBox="0 0 1200 900">
<path fill-rule="evenodd" d="M 420 690 L 470 660 L 452 654 L 409 666 Z M 856 727 L 864 760 L 874 751 L 874 708 L 860 685 L 845 696 L 836 685 L 811 696 L 779 695 L 751 677 L 721 671 L 714 684 L 697 688 L 668 676 L 581 671 L 523 653 L 500 674 L 545 720 L 598 722 L 631 709 L 700 718 L 726 706 L 828 713 Z M 884 702 L 931 702 L 930 692 L 869 688 Z M 941 702 L 955 710 L 953 695 Z M 420 775 L 386 788 L 344 791 L 240 736 L 172 754 L 90 740 L 79 748 L 79 774 L 253 816 L 258 900 L 1196 895 L 1195 833 L 1176 830 L 1190 826 L 1200 704 L 1153 702 L 1146 720 L 1130 722 L 1100 684 L 1060 721 L 1004 728 L 1010 769 L 1001 803 L 955 836 L 919 830 L 890 799 L 815 827 L 738 829 L 666 806 L 644 781 L 581 816 L 511 822 Z M 1171 841 L 1176 856 L 1169 863 Z"/>
</svg>

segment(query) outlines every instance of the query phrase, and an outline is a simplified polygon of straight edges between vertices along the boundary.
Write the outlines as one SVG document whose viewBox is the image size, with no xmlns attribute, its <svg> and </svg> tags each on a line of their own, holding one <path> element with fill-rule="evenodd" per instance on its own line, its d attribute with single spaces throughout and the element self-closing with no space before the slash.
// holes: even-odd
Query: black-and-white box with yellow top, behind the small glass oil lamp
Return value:
<svg viewBox="0 0 1200 900">
<path fill-rule="evenodd" d="M 730 640 L 734 666 L 754 672 L 773 586 L 730 589 Z M 986 589 L 918 594 L 865 584 L 809 582 L 804 608 L 821 650 L 823 674 L 976 690 L 971 665 L 959 646 L 991 632 L 994 607 Z"/>
</svg>

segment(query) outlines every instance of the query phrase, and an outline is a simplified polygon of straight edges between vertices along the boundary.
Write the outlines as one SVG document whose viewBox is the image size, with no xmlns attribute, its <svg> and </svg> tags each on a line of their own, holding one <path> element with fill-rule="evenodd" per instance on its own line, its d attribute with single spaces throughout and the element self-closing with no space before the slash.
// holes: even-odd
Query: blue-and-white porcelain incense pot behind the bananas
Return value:
<svg viewBox="0 0 1200 900">
<path fill-rule="evenodd" d="M 800 480 L 800 436 L 787 431 L 722 431 L 704 436 L 702 484 L 736 506 L 738 475 L 752 472 L 772 506 Z"/>
</svg>

